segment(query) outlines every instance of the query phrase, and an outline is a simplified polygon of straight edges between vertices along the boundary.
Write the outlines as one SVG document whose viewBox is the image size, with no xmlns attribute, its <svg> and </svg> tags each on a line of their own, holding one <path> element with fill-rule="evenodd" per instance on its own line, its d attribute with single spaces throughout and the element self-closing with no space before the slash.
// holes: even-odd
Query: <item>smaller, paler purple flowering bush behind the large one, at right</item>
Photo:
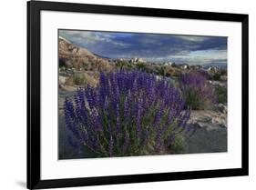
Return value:
<svg viewBox="0 0 256 190">
<path fill-rule="evenodd" d="M 216 103 L 215 91 L 207 77 L 201 70 L 191 70 L 180 75 L 179 86 L 187 107 L 195 110 L 210 109 Z"/>
</svg>

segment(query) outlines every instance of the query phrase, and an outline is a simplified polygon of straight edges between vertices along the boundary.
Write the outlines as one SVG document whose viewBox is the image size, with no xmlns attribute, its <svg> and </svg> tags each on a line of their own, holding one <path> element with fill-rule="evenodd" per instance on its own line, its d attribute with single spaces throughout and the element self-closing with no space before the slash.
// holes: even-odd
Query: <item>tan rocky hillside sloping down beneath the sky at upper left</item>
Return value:
<svg viewBox="0 0 256 190">
<path fill-rule="evenodd" d="M 58 38 L 59 67 L 75 68 L 87 71 L 109 71 L 111 65 L 108 60 L 67 41 L 63 37 Z"/>
</svg>

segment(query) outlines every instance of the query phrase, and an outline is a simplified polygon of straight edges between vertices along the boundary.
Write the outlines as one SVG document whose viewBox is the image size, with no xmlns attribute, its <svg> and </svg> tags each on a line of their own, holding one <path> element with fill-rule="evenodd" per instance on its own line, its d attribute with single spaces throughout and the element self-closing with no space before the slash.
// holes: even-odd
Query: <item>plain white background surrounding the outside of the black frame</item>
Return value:
<svg viewBox="0 0 256 190">
<path fill-rule="evenodd" d="M 255 189 L 256 186 L 256 5 L 252 0 L 66 0 L 250 15 L 250 176 L 132 185 L 77 187 L 87 190 Z M 26 188 L 26 1 L 0 3 L 0 189 Z M 255 62 L 255 63 L 254 63 Z M 216 161 L 218 162 L 218 161 Z M 254 186 L 254 187 L 253 187 Z M 72 188 L 70 188 L 72 189 Z"/>
</svg>

